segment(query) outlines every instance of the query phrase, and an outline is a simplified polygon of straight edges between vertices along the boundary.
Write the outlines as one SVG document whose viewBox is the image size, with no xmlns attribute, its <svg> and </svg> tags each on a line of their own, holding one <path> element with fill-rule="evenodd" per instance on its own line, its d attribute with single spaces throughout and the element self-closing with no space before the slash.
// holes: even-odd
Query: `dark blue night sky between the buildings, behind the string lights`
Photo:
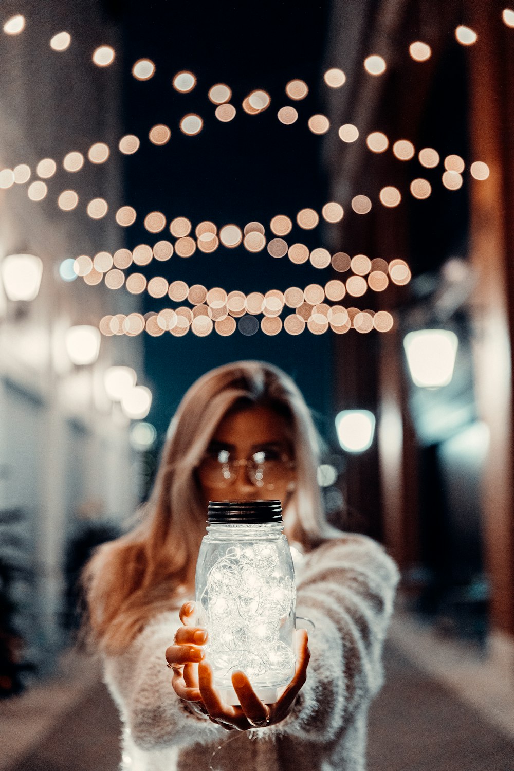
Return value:
<svg viewBox="0 0 514 771">
<path fill-rule="evenodd" d="M 303 8 L 294 2 L 259 2 L 255 5 L 219 3 L 177 5 L 170 2 L 133 4 L 124 8 L 124 130 L 142 139 L 156 123 L 170 126 L 166 146 L 142 141 L 134 157 L 126 157 L 126 203 L 138 212 L 139 225 L 130 228 L 126 246 L 153 244 L 170 238 L 167 230 L 148 234 L 144 215 L 160 210 L 170 222 L 188 217 L 193 228 L 203 220 L 218 227 L 235 223 L 241 228 L 260 221 L 269 239 L 271 217 L 287 214 L 293 221 L 304 207 L 321 210 L 328 200 L 327 180 L 321 173 L 322 137 L 307 129 L 308 117 L 323 112 L 322 74 L 328 34 L 328 4 L 311 3 Z M 156 74 L 147 82 L 130 76 L 139 58 L 156 63 Z M 172 87 L 173 76 L 187 69 L 197 76 L 192 93 L 180 94 Z M 310 87 L 307 99 L 292 103 L 284 91 L 293 78 Z M 237 115 L 231 123 L 220 123 L 215 106 L 207 98 L 210 86 L 224 82 L 233 89 L 231 102 Z M 253 89 L 265 89 L 271 105 L 264 113 L 250 116 L 241 103 Z M 294 104 L 297 123 L 284 126 L 277 109 Z M 198 136 L 184 136 L 179 129 L 186 113 L 202 116 Z M 140 214 L 140 216 L 139 216 Z M 334 227 L 334 226 L 332 226 Z M 310 248 L 322 246 L 323 229 L 303 231 L 294 224 L 289 243 L 302 241 Z M 207 288 L 266 292 L 288 286 L 304 288 L 311 282 L 324 284 L 329 271 L 307 264 L 275 259 L 267 250 L 250 254 L 243 246 L 220 246 L 213 254 L 196 251 L 184 259 L 173 254 L 170 261 L 144 269 L 150 278 L 164 275 Z M 146 311 L 176 307 L 169 298 L 155 300 L 145 294 Z M 186 303 L 184 303 L 186 305 Z M 260 319 L 260 317 L 257 317 Z M 265 359 L 294 376 L 307 402 L 318 414 L 321 430 L 333 423 L 331 406 L 331 335 L 291 337 L 284 330 L 276 337 L 247 337 L 237 329 L 223 338 L 212 332 L 197 338 L 165 333 L 160 338 L 144 336 L 146 375 L 153 390 L 149 414 L 159 433 L 189 385 L 214 366 L 237 359 Z"/>
</svg>

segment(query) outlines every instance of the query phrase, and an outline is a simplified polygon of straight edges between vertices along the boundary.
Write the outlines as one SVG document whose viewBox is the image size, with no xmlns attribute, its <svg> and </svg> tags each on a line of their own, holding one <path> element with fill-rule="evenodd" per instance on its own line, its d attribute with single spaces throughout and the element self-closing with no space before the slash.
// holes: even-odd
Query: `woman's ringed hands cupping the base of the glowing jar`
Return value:
<svg viewBox="0 0 514 771">
<path fill-rule="evenodd" d="M 200 645 L 207 641 L 207 632 L 193 627 L 190 620 L 193 609 L 193 603 L 187 603 L 180 609 L 180 620 L 184 627 L 176 633 L 176 644 L 166 650 L 166 659 L 173 667 L 172 684 L 176 695 L 190 702 L 193 711 L 209 715 L 212 722 L 228 731 L 247 731 L 272 726 L 284 720 L 307 677 L 307 665 L 311 658 L 307 647 L 307 630 L 299 629 L 296 632 L 296 672 L 281 698 L 274 704 L 264 704 L 254 692 L 247 675 L 244 672 L 233 672 L 232 685 L 240 706 L 231 706 L 220 698 L 213 685 L 212 667 L 203 661 L 205 654 Z"/>
</svg>

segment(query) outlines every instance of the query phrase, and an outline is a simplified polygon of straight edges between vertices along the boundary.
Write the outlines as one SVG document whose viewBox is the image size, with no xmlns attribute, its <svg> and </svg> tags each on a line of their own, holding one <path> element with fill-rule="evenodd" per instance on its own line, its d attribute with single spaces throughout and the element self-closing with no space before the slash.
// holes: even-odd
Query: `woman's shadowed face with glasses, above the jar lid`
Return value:
<svg viewBox="0 0 514 771">
<path fill-rule="evenodd" d="M 287 436 L 284 418 L 267 407 L 229 412 L 210 439 L 207 460 L 198 468 L 206 509 L 210 500 L 274 499 L 281 500 L 285 509 L 296 479 Z M 254 460 L 253 470 L 245 460 Z"/>
</svg>

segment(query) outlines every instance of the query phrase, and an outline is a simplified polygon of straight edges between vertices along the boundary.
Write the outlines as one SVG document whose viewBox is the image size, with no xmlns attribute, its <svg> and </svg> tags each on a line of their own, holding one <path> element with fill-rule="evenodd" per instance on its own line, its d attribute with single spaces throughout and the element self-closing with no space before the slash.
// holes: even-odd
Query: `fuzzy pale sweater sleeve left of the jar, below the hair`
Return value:
<svg viewBox="0 0 514 771">
<path fill-rule="evenodd" d="M 176 612 L 160 614 L 123 654 L 103 658 L 106 685 L 140 749 L 189 747 L 224 735 L 207 717 L 190 712 L 171 685 L 164 653 L 180 623 Z"/>
</svg>

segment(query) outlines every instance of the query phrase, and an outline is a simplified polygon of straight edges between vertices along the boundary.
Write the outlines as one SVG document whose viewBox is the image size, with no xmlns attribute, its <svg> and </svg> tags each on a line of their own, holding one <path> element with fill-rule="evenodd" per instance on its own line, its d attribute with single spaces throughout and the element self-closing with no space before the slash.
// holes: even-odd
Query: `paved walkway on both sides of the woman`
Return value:
<svg viewBox="0 0 514 771">
<path fill-rule="evenodd" d="M 448 679 L 458 651 L 467 674 Z M 491 709 L 512 672 L 495 679 L 490 662 L 408 617 L 395 618 L 384 660 L 385 686 L 369 715 L 368 771 L 514 771 L 510 686 L 500 692 L 505 725 Z M 70 657 L 66 668 L 67 678 L 0 703 L 0 734 L 8 737 L 0 771 L 116 771 L 119 722 L 97 668 Z M 477 692 L 489 685 L 482 712 Z"/>
</svg>

